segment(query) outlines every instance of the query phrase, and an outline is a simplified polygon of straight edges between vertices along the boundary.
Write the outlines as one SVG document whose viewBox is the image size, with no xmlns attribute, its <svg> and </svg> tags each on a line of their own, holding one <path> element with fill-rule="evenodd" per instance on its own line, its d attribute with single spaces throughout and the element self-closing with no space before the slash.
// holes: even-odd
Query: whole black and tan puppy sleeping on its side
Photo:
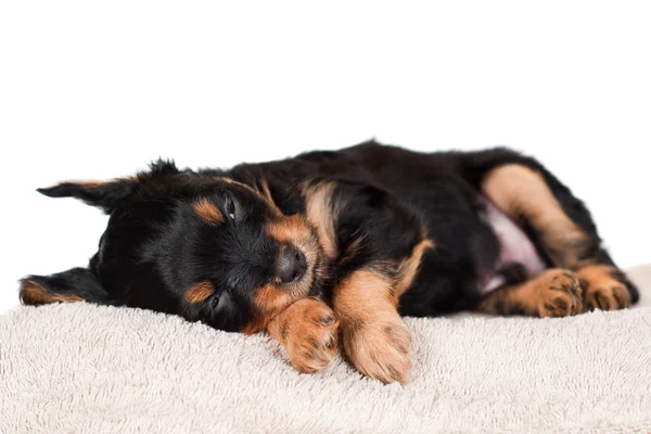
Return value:
<svg viewBox="0 0 651 434">
<path fill-rule="evenodd" d="M 39 191 L 111 217 L 88 268 L 25 278 L 25 304 L 87 301 L 267 330 L 305 372 L 327 367 L 341 336 L 360 372 L 406 382 L 401 316 L 564 317 L 638 298 L 584 204 L 507 149 L 369 142 L 230 170 L 158 162 L 133 178 Z"/>
</svg>

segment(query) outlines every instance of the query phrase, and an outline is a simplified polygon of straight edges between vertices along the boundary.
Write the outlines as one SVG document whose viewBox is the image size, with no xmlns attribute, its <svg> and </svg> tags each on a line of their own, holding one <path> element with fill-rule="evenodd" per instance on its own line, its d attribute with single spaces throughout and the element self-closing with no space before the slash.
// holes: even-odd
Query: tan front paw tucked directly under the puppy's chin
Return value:
<svg viewBox="0 0 651 434">
<path fill-rule="evenodd" d="M 312 373 L 327 368 L 337 350 L 339 321 L 323 302 L 301 299 L 279 315 L 269 331 L 285 347 L 296 370 Z"/>
</svg>

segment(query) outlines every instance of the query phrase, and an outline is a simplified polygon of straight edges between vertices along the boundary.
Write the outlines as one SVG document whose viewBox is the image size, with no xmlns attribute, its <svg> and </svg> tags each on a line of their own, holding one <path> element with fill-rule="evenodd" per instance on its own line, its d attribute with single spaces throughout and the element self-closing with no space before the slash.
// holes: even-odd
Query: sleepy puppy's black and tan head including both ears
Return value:
<svg viewBox="0 0 651 434">
<path fill-rule="evenodd" d="M 284 215 L 264 181 L 250 187 L 158 162 L 133 178 L 39 191 L 80 199 L 110 219 L 88 268 L 25 278 L 23 303 L 85 299 L 255 332 L 320 291 L 315 229 Z"/>
</svg>

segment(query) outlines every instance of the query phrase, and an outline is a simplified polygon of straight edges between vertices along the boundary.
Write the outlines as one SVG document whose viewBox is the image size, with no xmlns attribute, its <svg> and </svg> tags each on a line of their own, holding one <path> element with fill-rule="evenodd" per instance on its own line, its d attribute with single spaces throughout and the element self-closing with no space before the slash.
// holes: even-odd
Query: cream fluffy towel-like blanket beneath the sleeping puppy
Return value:
<svg viewBox="0 0 651 434">
<path fill-rule="evenodd" d="M 405 386 L 361 378 L 341 358 L 299 374 L 265 335 L 177 317 L 18 307 L 0 317 L 0 431 L 649 433 L 649 282 L 647 306 L 625 311 L 407 318 Z"/>
</svg>

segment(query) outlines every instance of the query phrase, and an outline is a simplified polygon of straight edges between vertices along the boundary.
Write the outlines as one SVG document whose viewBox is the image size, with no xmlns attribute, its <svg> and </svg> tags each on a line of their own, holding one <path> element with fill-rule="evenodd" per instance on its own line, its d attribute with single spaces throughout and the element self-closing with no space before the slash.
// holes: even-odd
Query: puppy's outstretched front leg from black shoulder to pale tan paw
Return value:
<svg viewBox="0 0 651 434">
<path fill-rule="evenodd" d="M 411 335 L 398 298 L 432 241 L 395 196 L 374 187 L 329 182 L 305 196 L 331 261 L 332 305 L 347 357 L 368 376 L 406 383 Z"/>
</svg>

